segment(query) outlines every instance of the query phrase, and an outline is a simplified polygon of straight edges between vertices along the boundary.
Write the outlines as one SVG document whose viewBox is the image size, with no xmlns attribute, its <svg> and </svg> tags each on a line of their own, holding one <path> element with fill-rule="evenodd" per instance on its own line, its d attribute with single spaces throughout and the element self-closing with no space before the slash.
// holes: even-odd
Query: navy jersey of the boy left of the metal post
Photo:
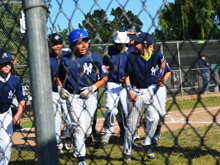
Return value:
<svg viewBox="0 0 220 165">
<path fill-rule="evenodd" d="M 26 97 L 20 80 L 12 74 L 8 74 L 6 79 L 0 77 L 0 113 L 6 112 L 11 107 L 14 95 L 18 102 Z"/>
</svg>

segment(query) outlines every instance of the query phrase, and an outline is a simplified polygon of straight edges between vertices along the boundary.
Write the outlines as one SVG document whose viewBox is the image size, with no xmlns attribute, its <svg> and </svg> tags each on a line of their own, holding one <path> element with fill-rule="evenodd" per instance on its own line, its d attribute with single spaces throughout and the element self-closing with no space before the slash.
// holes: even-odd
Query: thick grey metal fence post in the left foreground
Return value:
<svg viewBox="0 0 220 165">
<path fill-rule="evenodd" d="M 43 0 L 23 0 L 33 94 L 38 164 L 58 164 L 46 15 Z"/>
</svg>

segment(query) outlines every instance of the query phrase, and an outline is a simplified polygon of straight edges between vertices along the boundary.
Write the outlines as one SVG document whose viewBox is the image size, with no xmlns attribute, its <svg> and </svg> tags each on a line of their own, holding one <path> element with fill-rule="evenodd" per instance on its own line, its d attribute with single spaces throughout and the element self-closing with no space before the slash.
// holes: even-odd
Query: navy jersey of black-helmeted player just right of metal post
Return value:
<svg viewBox="0 0 220 165">
<path fill-rule="evenodd" d="M 62 50 L 62 53 L 60 54 L 59 58 L 56 58 L 52 54 L 50 54 L 50 73 L 51 73 L 51 81 L 52 81 L 52 90 L 54 92 L 58 92 L 57 80 L 56 80 L 58 76 L 58 68 L 59 68 L 58 61 L 60 60 L 60 58 L 62 58 L 62 56 L 68 53 L 69 51 Z"/>
</svg>

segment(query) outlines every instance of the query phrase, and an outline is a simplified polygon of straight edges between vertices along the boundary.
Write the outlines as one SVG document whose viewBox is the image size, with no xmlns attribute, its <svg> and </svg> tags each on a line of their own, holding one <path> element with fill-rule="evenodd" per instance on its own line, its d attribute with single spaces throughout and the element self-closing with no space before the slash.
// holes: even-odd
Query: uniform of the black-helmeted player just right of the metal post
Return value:
<svg viewBox="0 0 220 165">
<path fill-rule="evenodd" d="M 57 88 L 57 76 L 58 76 L 58 67 L 59 60 L 65 54 L 68 54 L 69 51 L 62 51 L 59 58 L 54 57 L 50 54 L 50 70 L 52 78 L 52 96 L 53 96 L 53 108 L 54 108 L 54 118 L 55 118 L 55 130 L 56 130 L 56 140 L 57 148 L 59 151 L 63 149 L 63 144 L 61 142 L 61 123 L 62 123 L 62 114 L 64 113 L 64 121 L 66 125 L 70 125 L 70 117 L 68 115 L 68 108 L 66 100 L 60 98 Z"/>
</svg>

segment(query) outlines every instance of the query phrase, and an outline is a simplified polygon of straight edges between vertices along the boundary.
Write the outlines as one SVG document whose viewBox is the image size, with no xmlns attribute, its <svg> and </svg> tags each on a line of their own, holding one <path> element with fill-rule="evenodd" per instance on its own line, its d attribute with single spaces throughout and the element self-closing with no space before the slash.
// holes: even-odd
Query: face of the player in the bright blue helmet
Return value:
<svg viewBox="0 0 220 165">
<path fill-rule="evenodd" d="M 75 49 L 75 55 L 76 56 L 83 56 L 86 54 L 89 47 L 89 39 L 83 38 L 81 42 L 77 43 L 76 49 Z"/>
</svg>

